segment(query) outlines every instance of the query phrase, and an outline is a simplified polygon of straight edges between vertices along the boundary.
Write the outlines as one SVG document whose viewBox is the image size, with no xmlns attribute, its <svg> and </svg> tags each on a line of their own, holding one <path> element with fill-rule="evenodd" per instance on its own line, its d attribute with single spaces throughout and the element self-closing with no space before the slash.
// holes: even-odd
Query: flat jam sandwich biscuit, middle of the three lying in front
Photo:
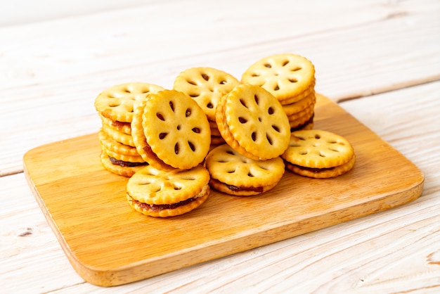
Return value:
<svg viewBox="0 0 440 294">
<path fill-rule="evenodd" d="M 209 184 L 235 196 L 264 193 L 278 184 L 285 172 L 283 159 L 252 160 L 223 144 L 209 151 L 205 166 L 211 174 Z"/>
</svg>

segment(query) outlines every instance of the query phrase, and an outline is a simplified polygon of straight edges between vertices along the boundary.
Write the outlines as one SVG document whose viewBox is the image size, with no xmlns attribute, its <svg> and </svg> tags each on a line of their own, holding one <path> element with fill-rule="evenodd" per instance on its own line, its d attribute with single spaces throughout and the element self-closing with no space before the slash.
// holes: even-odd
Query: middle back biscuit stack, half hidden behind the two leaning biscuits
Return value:
<svg viewBox="0 0 440 294">
<path fill-rule="evenodd" d="M 238 79 L 215 68 L 189 68 L 174 80 L 174 89 L 193 98 L 205 112 L 211 128 L 213 146 L 224 143 L 215 120 L 216 106 L 220 98 L 238 84 Z"/>
</svg>

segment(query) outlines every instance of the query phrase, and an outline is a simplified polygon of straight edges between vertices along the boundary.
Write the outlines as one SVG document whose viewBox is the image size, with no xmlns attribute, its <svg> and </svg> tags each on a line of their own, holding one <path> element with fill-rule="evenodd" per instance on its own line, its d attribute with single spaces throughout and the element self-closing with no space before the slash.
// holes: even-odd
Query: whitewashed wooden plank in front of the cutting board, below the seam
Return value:
<svg viewBox="0 0 440 294">
<path fill-rule="evenodd" d="M 427 124 L 427 120 L 440 115 L 438 89 L 438 83 L 424 84 L 339 104 L 422 170 L 422 197 L 396 209 L 123 286 L 103 289 L 86 283 L 67 260 L 25 175 L 0 177 L 1 291 L 261 293 L 276 286 L 284 292 L 302 293 L 370 294 L 369 289 L 375 293 L 436 293 L 440 276 L 440 144 L 432 134 L 438 134 L 440 126 Z M 418 117 L 414 107 L 427 117 Z M 399 111 L 380 115 L 393 108 Z M 27 228 L 32 234 L 22 236 Z M 401 264 L 399 271 L 395 264 Z M 22 283 L 23 277 L 27 283 Z"/>
</svg>

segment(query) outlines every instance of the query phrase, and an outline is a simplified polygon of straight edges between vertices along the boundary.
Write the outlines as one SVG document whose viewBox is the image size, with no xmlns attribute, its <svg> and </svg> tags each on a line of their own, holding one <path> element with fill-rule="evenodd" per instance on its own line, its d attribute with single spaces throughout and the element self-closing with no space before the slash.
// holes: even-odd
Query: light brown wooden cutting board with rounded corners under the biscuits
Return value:
<svg viewBox="0 0 440 294">
<path fill-rule="evenodd" d="M 315 127 L 346 137 L 356 165 L 333 179 L 285 172 L 259 196 L 212 190 L 186 215 L 145 217 L 129 207 L 127 178 L 103 169 L 97 134 L 50 143 L 24 156 L 27 181 L 72 266 L 98 286 L 146 279 L 403 205 L 424 175 L 401 153 L 328 98 Z"/>
</svg>

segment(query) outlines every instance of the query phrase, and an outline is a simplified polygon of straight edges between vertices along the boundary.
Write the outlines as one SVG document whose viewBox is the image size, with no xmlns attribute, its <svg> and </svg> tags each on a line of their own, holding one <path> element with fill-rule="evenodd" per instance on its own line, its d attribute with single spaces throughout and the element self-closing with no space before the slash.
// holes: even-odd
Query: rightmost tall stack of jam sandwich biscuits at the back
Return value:
<svg viewBox="0 0 440 294">
<path fill-rule="evenodd" d="M 310 60 L 291 53 L 268 56 L 247 68 L 241 82 L 258 85 L 275 96 L 285 109 L 291 132 L 313 128 L 316 80 Z"/>
</svg>

